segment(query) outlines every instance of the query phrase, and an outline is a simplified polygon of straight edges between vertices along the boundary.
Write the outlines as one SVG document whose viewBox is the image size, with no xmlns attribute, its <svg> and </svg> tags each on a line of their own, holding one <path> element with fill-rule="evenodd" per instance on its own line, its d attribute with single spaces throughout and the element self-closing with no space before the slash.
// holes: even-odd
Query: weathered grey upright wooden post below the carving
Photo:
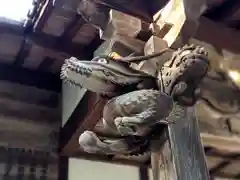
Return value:
<svg viewBox="0 0 240 180">
<path fill-rule="evenodd" d="M 208 180 L 209 174 L 201 144 L 198 122 L 195 118 L 195 109 L 180 106 L 177 106 L 177 108 L 179 114 L 177 114 L 176 123 L 168 126 L 170 149 L 168 149 L 167 153 L 171 154 L 173 166 L 168 164 L 165 171 L 173 179 Z"/>
</svg>

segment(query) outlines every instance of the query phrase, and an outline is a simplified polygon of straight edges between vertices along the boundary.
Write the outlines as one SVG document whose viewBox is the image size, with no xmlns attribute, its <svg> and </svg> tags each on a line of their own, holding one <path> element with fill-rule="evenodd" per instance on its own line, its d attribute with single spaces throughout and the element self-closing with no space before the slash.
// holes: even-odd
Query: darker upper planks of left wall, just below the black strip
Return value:
<svg viewBox="0 0 240 180">
<path fill-rule="evenodd" d="M 0 114 L 58 123 L 59 96 L 36 87 L 0 81 Z"/>
</svg>

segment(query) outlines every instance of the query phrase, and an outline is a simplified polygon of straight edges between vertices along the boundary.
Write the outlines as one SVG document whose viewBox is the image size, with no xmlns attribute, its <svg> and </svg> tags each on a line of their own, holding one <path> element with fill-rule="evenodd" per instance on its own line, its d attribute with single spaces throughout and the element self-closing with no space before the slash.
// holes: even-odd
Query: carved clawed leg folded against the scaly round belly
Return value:
<svg viewBox="0 0 240 180">
<path fill-rule="evenodd" d="M 139 135 L 139 133 L 144 134 L 143 131 L 148 130 L 156 123 L 172 123 L 166 121 L 165 119 L 157 119 L 154 114 L 155 111 L 156 110 L 149 108 L 132 117 L 117 117 L 114 122 L 118 131 L 122 135 Z"/>
</svg>

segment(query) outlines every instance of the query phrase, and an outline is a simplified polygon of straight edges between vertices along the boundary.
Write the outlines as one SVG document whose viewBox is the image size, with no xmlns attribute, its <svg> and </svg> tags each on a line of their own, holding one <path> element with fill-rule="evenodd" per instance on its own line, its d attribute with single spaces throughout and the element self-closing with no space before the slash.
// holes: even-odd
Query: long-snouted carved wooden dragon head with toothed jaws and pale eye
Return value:
<svg viewBox="0 0 240 180">
<path fill-rule="evenodd" d="M 134 70 L 126 62 L 113 60 L 107 56 L 95 57 L 91 61 L 66 59 L 61 69 L 61 79 L 90 91 L 108 94 L 117 88 L 136 84 L 154 77 Z"/>
</svg>

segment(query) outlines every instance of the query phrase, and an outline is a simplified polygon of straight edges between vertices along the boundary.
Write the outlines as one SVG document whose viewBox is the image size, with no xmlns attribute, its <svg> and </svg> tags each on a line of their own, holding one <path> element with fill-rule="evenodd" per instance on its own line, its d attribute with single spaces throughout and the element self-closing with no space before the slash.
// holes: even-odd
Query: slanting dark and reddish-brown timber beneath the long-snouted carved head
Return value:
<svg viewBox="0 0 240 180">
<path fill-rule="evenodd" d="M 66 125 L 60 131 L 61 155 L 71 156 L 79 151 L 78 137 L 84 130 L 93 129 L 102 115 L 105 100 L 86 92 Z"/>
</svg>

